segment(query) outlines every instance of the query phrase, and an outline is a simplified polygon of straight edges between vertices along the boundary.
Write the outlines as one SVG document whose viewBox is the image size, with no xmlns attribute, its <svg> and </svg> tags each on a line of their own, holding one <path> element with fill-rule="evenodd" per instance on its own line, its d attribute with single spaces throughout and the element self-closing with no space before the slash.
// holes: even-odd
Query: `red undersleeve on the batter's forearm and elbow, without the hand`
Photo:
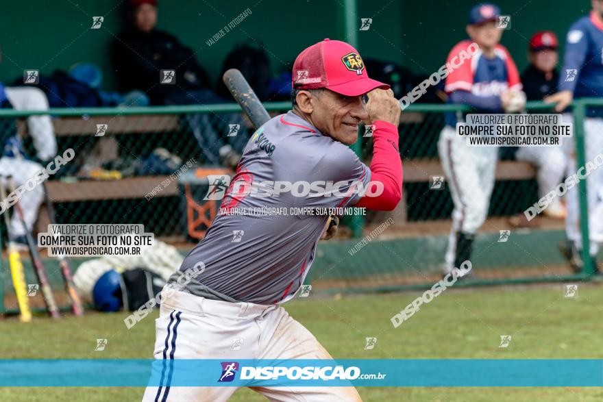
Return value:
<svg viewBox="0 0 603 402">
<path fill-rule="evenodd" d="M 398 128 L 386 121 L 373 122 L 373 160 L 371 181 L 380 181 L 383 192 L 377 197 L 362 197 L 355 207 L 391 211 L 402 199 L 402 160 L 398 148 Z"/>
</svg>

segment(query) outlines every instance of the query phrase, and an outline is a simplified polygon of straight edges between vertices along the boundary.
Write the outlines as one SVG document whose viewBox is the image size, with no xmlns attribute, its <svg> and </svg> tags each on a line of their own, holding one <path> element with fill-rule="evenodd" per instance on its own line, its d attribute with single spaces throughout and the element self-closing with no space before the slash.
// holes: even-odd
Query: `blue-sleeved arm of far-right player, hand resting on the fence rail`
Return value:
<svg viewBox="0 0 603 402">
<path fill-rule="evenodd" d="M 580 68 L 586 60 L 588 51 L 588 40 L 584 29 L 578 24 L 574 24 L 567 32 L 565 40 L 565 54 L 563 56 L 563 68 L 559 74 L 558 92 L 545 97 L 545 103 L 556 103 L 556 112 L 562 112 L 574 100 L 574 90 L 578 79 L 580 78 Z M 566 80 L 567 71 L 576 71 L 576 77 Z"/>
</svg>

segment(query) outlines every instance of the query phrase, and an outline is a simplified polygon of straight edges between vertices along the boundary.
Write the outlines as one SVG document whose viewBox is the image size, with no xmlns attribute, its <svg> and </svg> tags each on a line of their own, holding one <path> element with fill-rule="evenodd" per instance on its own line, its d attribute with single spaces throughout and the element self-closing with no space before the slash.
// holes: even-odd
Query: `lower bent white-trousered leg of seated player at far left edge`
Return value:
<svg viewBox="0 0 603 402">
<path fill-rule="evenodd" d="M 0 158 L 0 174 L 12 176 L 12 183 L 15 188 L 23 186 L 27 179 L 34 177 L 36 172 L 42 169 L 40 164 L 30 160 Z M 6 184 L 5 181 L 3 181 L 3 184 Z M 27 188 L 31 187 L 28 186 Z M 23 192 L 21 199 L 19 199 L 19 204 L 23 210 L 27 227 L 23 227 L 18 214 L 13 214 L 10 221 L 10 233 L 12 236 L 22 236 L 26 231 L 32 231 L 34 223 L 36 223 L 36 219 L 38 218 L 38 209 L 43 200 L 44 190 L 41 185 L 36 184 L 32 190 L 25 190 Z"/>
</svg>

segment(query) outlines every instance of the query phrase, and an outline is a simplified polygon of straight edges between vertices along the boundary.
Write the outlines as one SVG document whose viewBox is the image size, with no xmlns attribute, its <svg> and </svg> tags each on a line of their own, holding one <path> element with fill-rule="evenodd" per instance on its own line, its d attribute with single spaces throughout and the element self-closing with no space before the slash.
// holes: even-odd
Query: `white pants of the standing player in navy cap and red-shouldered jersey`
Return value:
<svg viewBox="0 0 603 402">
<path fill-rule="evenodd" d="M 498 147 L 469 147 L 456 129 L 444 127 L 438 141 L 442 168 L 454 202 L 446 271 L 454 268 L 456 232 L 476 234 L 484 224 L 494 187 Z"/>
</svg>

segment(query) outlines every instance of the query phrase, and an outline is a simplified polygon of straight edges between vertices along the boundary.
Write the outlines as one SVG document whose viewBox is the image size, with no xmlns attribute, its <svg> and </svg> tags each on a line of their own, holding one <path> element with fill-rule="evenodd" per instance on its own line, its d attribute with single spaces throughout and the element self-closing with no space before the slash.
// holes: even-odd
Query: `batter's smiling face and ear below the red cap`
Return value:
<svg viewBox="0 0 603 402">
<path fill-rule="evenodd" d="M 369 118 L 364 96 L 345 97 L 323 90 L 316 97 L 310 95 L 308 103 L 303 111 L 310 123 L 321 133 L 348 145 L 358 140 L 358 125 Z"/>
</svg>

